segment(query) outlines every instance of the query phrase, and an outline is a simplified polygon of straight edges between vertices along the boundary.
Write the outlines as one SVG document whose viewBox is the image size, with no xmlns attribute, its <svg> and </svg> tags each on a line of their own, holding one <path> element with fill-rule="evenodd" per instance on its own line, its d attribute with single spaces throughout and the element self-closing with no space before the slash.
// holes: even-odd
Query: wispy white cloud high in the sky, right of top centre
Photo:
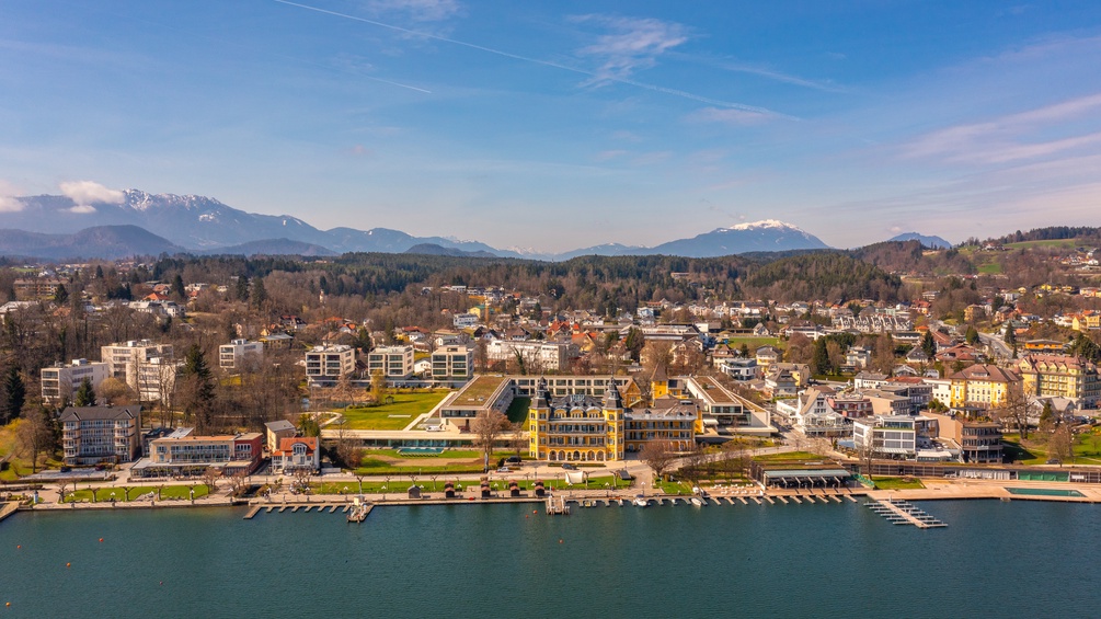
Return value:
<svg viewBox="0 0 1101 619">
<path fill-rule="evenodd" d="M 579 15 L 579 23 L 593 23 L 610 32 L 578 51 L 600 62 L 593 83 L 626 79 L 636 69 L 656 64 L 657 57 L 688 41 L 685 26 L 656 19 Z"/>
</svg>

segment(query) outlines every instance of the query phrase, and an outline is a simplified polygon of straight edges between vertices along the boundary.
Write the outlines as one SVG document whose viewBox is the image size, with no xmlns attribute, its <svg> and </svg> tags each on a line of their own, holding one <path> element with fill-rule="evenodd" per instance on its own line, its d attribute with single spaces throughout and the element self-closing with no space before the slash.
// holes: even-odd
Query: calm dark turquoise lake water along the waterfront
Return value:
<svg viewBox="0 0 1101 619">
<path fill-rule="evenodd" d="M 386 507 L 362 524 L 339 512 L 23 512 L 0 523 L 0 612 L 1101 616 L 1101 507 L 919 507 L 948 528 L 892 525 L 848 501 L 569 517 L 533 504 Z"/>
</svg>

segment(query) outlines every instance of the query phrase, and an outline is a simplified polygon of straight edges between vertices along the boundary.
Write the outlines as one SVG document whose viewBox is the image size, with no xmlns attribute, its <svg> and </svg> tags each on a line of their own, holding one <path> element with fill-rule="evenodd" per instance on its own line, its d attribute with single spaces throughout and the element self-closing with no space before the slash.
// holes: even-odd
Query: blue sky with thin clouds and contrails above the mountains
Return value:
<svg viewBox="0 0 1101 619">
<path fill-rule="evenodd" d="M 0 211 L 64 187 L 543 252 L 1101 226 L 1101 3 L 0 0 Z"/>
</svg>

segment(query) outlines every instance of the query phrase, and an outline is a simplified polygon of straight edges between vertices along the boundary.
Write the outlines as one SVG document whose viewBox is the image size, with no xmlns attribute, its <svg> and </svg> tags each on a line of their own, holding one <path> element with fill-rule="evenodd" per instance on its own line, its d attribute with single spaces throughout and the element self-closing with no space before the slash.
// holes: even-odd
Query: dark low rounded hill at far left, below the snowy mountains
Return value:
<svg viewBox="0 0 1101 619">
<path fill-rule="evenodd" d="M 46 260 L 179 253 L 184 248 L 138 226 L 96 226 L 72 235 L 0 230 L 0 253 Z"/>
</svg>

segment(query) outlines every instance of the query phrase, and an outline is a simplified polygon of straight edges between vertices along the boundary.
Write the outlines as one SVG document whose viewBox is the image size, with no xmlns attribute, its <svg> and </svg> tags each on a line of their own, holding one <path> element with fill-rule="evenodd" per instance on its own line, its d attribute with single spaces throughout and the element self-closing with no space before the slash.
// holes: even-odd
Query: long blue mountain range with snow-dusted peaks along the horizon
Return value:
<svg viewBox="0 0 1101 619">
<path fill-rule="evenodd" d="M 814 235 L 772 219 L 718 228 L 655 247 L 601 245 L 557 254 L 495 249 L 478 241 L 414 237 L 400 230 L 319 230 L 286 215 L 258 215 L 195 195 L 117 192 L 106 202 L 67 196 L 15 198 L 0 213 L 0 253 L 25 258 L 106 258 L 160 253 L 337 256 L 417 252 L 568 260 L 578 256 L 667 254 L 711 258 L 746 252 L 828 249 Z"/>
</svg>

